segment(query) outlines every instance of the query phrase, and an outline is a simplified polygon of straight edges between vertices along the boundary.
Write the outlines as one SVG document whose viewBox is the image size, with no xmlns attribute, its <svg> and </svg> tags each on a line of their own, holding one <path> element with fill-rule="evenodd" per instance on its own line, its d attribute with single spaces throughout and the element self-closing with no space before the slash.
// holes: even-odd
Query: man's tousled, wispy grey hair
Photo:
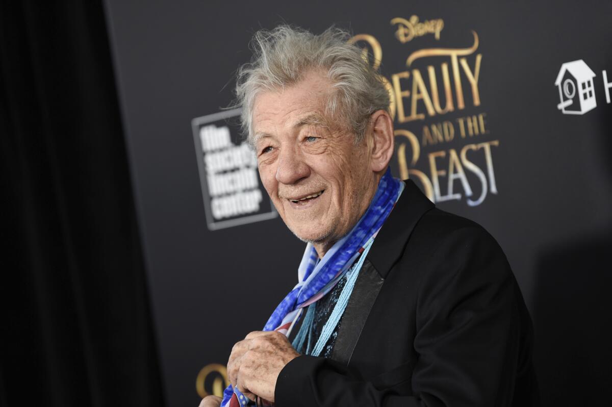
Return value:
<svg viewBox="0 0 612 407">
<path fill-rule="evenodd" d="M 253 35 L 253 58 L 237 73 L 237 106 L 242 106 L 242 130 L 253 143 L 252 114 L 260 91 L 275 91 L 299 82 L 310 70 L 324 70 L 334 91 L 327 101 L 327 117 L 338 117 L 363 139 L 370 115 L 389 111 L 389 92 L 363 51 L 348 43 L 351 34 L 328 28 L 319 35 L 282 24 Z"/>
</svg>

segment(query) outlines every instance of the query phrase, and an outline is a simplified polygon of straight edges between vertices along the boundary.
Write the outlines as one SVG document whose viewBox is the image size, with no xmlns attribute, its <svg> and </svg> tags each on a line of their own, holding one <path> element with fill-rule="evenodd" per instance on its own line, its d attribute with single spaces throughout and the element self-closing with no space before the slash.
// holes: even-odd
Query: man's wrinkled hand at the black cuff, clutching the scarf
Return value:
<svg viewBox="0 0 612 407">
<path fill-rule="evenodd" d="M 299 356 L 287 337 L 274 330 L 251 332 L 236 343 L 228 360 L 228 378 L 245 396 L 274 403 L 278 373 Z M 254 400 L 254 397 L 252 398 Z"/>
</svg>

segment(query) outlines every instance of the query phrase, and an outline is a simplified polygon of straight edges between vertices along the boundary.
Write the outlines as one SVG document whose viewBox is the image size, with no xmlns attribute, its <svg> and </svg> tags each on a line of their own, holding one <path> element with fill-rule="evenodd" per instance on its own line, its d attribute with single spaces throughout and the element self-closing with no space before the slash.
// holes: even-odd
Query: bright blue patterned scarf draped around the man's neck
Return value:
<svg viewBox="0 0 612 407">
<path fill-rule="evenodd" d="M 300 309 L 316 302 L 334 288 L 364 251 L 366 242 L 383 226 L 403 187 L 403 182 L 392 177 L 387 169 L 365 214 L 345 237 L 325 253 L 321 261 L 318 261 L 313 245 L 308 243 L 297 270 L 297 285 L 278 304 L 263 330 L 277 330 L 287 335 Z M 228 403 L 230 407 L 242 405 L 238 400 L 244 400 L 244 396 L 230 384 L 223 392 L 221 406 L 226 407 Z"/>
</svg>

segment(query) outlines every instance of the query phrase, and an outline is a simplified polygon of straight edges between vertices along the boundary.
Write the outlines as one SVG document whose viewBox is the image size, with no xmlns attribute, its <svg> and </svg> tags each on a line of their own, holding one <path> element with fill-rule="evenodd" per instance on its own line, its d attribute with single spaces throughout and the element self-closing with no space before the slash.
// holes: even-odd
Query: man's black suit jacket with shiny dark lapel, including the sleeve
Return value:
<svg viewBox="0 0 612 407">
<path fill-rule="evenodd" d="M 332 356 L 289 362 L 275 405 L 536 406 L 532 342 L 497 242 L 406 181 L 360 271 Z"/>
</svg>

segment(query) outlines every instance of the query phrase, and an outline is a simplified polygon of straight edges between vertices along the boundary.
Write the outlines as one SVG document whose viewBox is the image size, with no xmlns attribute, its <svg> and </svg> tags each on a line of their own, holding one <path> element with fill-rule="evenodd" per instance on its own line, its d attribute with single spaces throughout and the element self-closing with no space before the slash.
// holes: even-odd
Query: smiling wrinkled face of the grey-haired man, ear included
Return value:
<svg viewBox="0 0 612 407">
<path fill-rule="evenodd" d="M 330 91 L 313 71 L 259 94 L 252 121 L 259 175 L 274 206 L 289 230 L 324 251 L 353 228 L 377 186 L 366 138 L 355 145 L 353 132 L 324 117 Z"/>
</svg>

